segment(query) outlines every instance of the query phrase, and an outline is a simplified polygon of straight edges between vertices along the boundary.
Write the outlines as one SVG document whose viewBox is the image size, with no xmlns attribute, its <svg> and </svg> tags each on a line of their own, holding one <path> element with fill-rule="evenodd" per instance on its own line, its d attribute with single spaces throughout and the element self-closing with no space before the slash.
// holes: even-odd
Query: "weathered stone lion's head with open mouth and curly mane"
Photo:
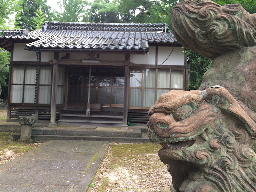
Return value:
<svg viewBox="0 0 256 192">
<path fill-rule="evenodd" d="M 248 111 L 221 86 L 160 96 L 148 136 L 162 145 L 172 191 L 256 191 L 256 124 Z"/>
</svg>

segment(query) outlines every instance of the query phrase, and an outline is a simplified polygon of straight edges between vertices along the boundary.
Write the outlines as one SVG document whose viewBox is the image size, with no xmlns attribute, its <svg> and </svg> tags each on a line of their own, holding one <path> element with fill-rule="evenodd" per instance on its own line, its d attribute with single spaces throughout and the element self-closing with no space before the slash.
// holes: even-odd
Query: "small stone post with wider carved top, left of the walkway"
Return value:
<svg viewBox="0 0 256 192">
<path fill-rule="evenodd" d="M 19 124 L 21 124 L 20 140 L 21 142 L 32 142 L 32 125 L 35 123 L 35 116 L 20 116 Z"/>
</svg>

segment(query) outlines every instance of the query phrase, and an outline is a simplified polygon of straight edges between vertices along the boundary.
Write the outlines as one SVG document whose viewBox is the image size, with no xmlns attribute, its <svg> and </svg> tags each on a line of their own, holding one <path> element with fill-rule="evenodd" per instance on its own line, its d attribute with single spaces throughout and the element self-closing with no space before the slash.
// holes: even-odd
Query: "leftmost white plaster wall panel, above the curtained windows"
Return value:
<svg viewBox="0 0 256 192">
<path fill-rule="evenodd" d="M 13 61 L 33 61 L 36 62 L 37 57 L 35 51 L 25 50 L 27 43 L 14 43 Z"/>
</svg>

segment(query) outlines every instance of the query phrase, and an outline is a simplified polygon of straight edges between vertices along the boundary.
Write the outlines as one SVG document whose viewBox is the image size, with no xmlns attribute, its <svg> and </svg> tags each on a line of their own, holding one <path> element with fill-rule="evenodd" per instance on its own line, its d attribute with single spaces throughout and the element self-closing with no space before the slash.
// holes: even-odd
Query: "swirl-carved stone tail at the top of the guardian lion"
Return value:
<svg viewBox="0 0 256 192">
<path fill-rule="evenodd" d="M 178 43 L 208 58 L 256 45 L 256 14 L 237 3 L 185 0 L 173 7 L 171 22 Z"/>
</svg>

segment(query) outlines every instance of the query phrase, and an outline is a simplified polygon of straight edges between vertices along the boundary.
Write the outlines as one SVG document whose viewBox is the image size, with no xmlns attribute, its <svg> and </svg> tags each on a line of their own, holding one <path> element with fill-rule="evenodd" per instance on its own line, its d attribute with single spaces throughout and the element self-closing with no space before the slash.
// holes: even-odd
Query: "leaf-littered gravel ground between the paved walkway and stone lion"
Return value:
<svg viewBox="0 0 256 192">
<path fill-rule="evenodd" d="M 122 154 L 113 153 L 116 143 L 111 143 L 94 180 L 92 191 L 161 191 L 169 192 L 171 175 L 157 152 Z"/>
</svg>

